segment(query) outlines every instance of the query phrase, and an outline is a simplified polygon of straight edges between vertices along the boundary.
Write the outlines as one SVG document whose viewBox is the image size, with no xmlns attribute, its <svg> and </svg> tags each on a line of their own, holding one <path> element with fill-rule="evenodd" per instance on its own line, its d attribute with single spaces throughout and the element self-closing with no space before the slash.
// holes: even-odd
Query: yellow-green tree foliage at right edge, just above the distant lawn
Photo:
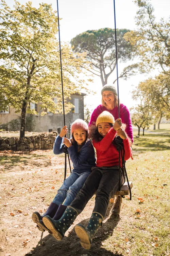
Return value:
<svg viewBox="0 0 170 256">
<path fill-rule="evenodd" d="M 154 79 L 149 78 L 140 82 L 135 90 L 132 91 L 132 98 L 139 104 L 133 108 L 135 113 L 132 116 L 134 125 L 140 127 L 149 124 L 143 121 L 158 122 L 158 129 L 161 118 L 170 118 L 170 79 L 167 74 L 159 74 Z M 150 119 L 150 115 L 152 118 Z M 146 118 L 147 117 L 147 118 Z M 146 122 L 145 122 L 146 123 Z M 150 123 L 151 124 L 151 123 Z"/>
</svg>

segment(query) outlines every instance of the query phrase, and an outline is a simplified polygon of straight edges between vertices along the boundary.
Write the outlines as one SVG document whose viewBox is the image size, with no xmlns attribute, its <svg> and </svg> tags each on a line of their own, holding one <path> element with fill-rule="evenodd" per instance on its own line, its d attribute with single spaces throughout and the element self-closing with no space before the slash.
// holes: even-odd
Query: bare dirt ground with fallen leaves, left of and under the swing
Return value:
<svg viewBox="0 0 170 256">
<path fill-rule="evenodd" d="M 47 231 L 41 233 L 35 227 L 32 213 L 44 213 L 63 182 L 63 155 L 56 160 L 52 151 L 3 152 L 0 157 L 1 256 L 118 255 L 101 248 L 103 241 L 119 223 L 119 218 L 110 215 L 112 204 L 90 251 L 81 247 L 74 226 L 88 223 L 94 198 L 67 231 L 62 242 L 57 242 Z M 67 172 L 69 174 L 69 170 Z"/>
</svg>

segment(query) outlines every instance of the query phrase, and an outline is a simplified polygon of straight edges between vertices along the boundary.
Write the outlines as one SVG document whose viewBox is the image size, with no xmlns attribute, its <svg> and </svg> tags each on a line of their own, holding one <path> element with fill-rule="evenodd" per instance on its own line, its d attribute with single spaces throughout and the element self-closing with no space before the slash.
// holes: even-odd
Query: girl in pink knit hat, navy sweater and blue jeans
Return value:
<svg viewBox="0 0 170 256">
<path fill-rule="evenodd" d="M 65 144 L 68 147 L 67 151 L 73 163 L 73 170 L 70 176 L 63 182 L 61 188 L 58 189 L 54 200 L 45 214 L 40 215 L 38 212 L 32 214 L 32 220 L 37 223 L 41 232 L 49 231 L 43 223 L 43 217 L 48 215 L 54 221 L 60 219 L 67 206 L 71 204 L 82 188 L 85 180 L 91 173 L 91 168 L 96 166 L 94 147 L 88 139 L 87 123 L 82 119 L 77 119 L 72 123 L 71 140 L 64 137 L 67 132 L 67 126 L 64 126 L 56 137 L 53 152 L 56 155 L 63 153 L 63 146 Z"/>
</svg>

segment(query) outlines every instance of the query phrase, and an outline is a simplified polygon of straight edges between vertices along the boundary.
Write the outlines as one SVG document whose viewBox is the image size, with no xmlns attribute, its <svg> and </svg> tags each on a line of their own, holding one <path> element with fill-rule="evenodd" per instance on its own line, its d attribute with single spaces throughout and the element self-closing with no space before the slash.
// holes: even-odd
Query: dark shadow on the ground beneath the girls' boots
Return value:
<svg viewBox="0 0 170 256">
<path fill-rule="evenodd" d="M 106 217 L 108 217 L 109 212 L 113 204 L 109 204 Z M 84 226 L 87 226 L 88 219 L 81 221 L 80 223 Z M 114 254 L 111 251 L 108 251 L 104 248 L 101 248 L 102 242 L 105 241 L 109 236 L 112 236 L 114 228 L 117 226 L 120 221 L 120 217 L 111 217 L 102 225 L 102 227 L 96 233 L 90 250 L 85 250 L 80 244 L 80 239 L 77 237 L 75 230 L 69 232 L 68 237 L 64 237 L 62 241 L 57 241 L 50 234 L 42 238 L 38 242 L 37 246 L 31 250 L 32 253 L 36 256 L 80 256 L 80 255 L 90 255 L 90 256 L 122 256 L 122 254 Z M 45 245 L 42 245 L 42 242 L 45 242 Z M 114 246 L 114 245 L 113 245 Z M 26 256 L 26 255 L 25 255 Z"/>
</svg>

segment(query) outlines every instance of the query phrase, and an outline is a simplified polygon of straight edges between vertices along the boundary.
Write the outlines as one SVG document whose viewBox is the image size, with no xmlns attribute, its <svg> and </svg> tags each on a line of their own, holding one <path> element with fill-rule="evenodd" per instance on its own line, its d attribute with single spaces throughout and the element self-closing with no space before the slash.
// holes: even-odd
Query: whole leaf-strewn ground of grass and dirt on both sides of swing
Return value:
<svg viewBox="0 0 170 256">
<path fill-rule="evenodd" d="M 132 200 L 129 196 L 123 199 L 117 217 L 112 216 L 113 205 L 109 204 L 90 251 L 81 247 L 74 226 L 88 223 L 95 196 L 61 242 L 47 231 L 41 234 L 31 220 L 34 211 L 45 212 L 61 186 L 64 155 L 54 156 L 52 151 L 40 150 L 1 152 L 1 255 L 170 255 L 170 129 L 164 130 L 156 130 L 158 134 L 146 132 L 139 138 L 135 138 L 137 132 L 134 132 L 134 160 L 126 162 L 129 180 L 133 182 Z"/>
</svg>

